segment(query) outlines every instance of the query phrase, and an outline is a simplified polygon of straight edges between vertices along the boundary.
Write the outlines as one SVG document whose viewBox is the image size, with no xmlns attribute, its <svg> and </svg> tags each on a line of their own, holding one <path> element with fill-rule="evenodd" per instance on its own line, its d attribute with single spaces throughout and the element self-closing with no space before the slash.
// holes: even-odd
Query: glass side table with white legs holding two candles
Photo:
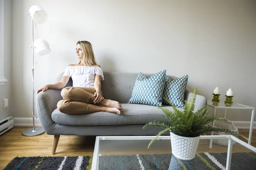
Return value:
<svg viewBox="0 0 256 170">
<path fill-rule="evenodd" d="M 216 115 L 216 109 L 225 109 L 224 113 L 224 118 L 226 118 L 226 111 L 227 109 L 249 109 L 252 111 L 251 114 L 251 120 L 250 120 L 250 132 L 249 132 L 249 138 L 247 138 L 248 144 L 251 143 L 252 140 L 252 133 L 253 133 L 253 120 L 254 120 L 254 113 L 255 113 L 255 108 L 247 106 L 247 105 L 242 105 L 239 103 L 233 102 L 233 104 L 225 104 L 224 100 L 220 100 L 220 102 L 212 102 L 212 99 L 207 99 L 207 105 L 211 108 L 213 108 L 213 116 Z M 214 127 L 215 121 L 212 122 L 212 127 Z M 211 132 L 211 135 L 213 135 L 213 132 Z M 212 148 L 212 139 L 210 139 L 210 149 Z"/>
</svg>

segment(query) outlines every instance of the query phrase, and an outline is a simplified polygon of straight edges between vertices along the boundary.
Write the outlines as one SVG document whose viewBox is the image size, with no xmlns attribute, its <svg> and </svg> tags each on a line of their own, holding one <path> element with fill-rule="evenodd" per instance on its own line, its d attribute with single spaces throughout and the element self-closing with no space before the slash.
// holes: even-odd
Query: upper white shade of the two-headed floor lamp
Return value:
<svg viewBox="0 0 256 170">
<path fill-rule="evenodd" d="M 35 21 L 35 23 L 43 24 L 48 19 L 48 14 L 40 6 L 31 6 L 29 8 L 29 15 Z"/>
</svg>

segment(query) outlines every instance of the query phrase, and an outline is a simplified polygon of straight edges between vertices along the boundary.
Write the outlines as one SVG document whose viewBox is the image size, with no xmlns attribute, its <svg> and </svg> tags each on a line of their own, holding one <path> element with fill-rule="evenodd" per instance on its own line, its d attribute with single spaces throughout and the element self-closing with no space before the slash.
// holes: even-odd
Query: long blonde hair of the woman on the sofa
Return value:
<svg viewBox="0 0 256 170">
<path fill-rule="evenodd" d="M 81 49 L 84 53 L 84 56 L 82 59 L 79 59 L 77 64 L 83 64 L 88 66 L 96 65 L 96 60 L 93 53 L 93 46 L 88 41 L 78 41 L 76 45 L 80 45 Z"/>
</svg>

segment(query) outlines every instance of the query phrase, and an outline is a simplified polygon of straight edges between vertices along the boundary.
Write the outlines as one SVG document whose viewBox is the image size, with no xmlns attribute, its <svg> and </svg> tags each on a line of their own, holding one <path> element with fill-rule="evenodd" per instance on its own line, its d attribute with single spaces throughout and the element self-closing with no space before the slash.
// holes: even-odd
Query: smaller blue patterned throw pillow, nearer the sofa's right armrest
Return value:
<svg viewBox="0 0 256 170">
<path fill-rule="evenodd" d="M 172 105 L 178 108 L 184 108 L 184 95 L 188 78 L 188 75 L 175 80 L 166 77 L 166 82 L 163 88 L 163 97 L 168 99 Z M 163 105 L 169 105 L 165 99 L 163 99 Z"/>
</svg>

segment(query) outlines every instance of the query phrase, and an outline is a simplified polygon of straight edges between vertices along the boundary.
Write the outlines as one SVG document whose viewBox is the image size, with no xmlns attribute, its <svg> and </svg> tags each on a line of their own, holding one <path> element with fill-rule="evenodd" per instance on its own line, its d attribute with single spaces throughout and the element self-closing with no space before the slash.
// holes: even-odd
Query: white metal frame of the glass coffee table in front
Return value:
<svg viewBox="0 0 256 170">
<path fill-rule="evenodd" d="M 155 136 L 96 136 L 91 170 L 99 170 L 99 141 L 100 140 L 151 140 L 154 137 Z M 170 140 L 170 136 L 158 137 L 158 140 L 166 140 L 166 139 Z M 232 135 L 200 136 L 200 139 L 228 139 L 226 170 L 230 170 L 232 147 L 233 147 L 232 140 L 243 145 L 244 147 L 247 147 L 253 152 L 256 152 L 256 147 L 253 147 L 250 144 L 247 144 Z"/>
</svg>

